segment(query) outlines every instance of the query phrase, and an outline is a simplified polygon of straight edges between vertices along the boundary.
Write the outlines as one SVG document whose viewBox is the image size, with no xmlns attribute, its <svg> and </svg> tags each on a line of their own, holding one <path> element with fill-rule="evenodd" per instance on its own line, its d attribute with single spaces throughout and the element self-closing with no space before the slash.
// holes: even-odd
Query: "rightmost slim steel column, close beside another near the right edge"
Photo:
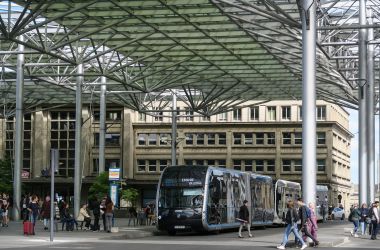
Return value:
<svg viewBox="0 0 380 250">
<path fill-rule="evenodd" d="M 368 23 L 373 23 L 372 10 L 368 10 Z M 368 40 L 374 39 L 373 28 L 368 29 Z M 367 201 L 375 201 L 375 75 L 374 75 L 374 45 L 368 45 L 367 55 L 367 89 L 368 89 L 368 102 L 367 102 L 367 147 L 368 147 L 368 186 L 367 186 Z"/>
</svg>

